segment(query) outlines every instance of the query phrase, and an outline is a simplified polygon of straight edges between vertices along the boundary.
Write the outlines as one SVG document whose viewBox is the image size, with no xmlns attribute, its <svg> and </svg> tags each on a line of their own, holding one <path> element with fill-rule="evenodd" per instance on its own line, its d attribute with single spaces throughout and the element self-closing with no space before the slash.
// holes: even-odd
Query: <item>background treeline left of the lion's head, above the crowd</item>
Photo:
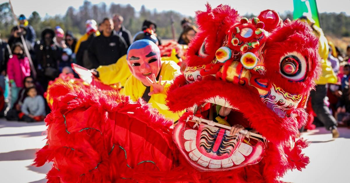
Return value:
<svg viewBox="0 0 350 183">
<path fill-rule="evenodd" d="M 39 8 L 39 7 L 38 7 Z M 18 15 L 21 12 L 16 12 Z M 89 19 L 96 20 L 97 23 L 101 22 L 105 17 L 112 17 L 113 14 L 118 13 L 124 17 L 124 26 L 130 30 L 134 35 L 142 28 L 142 22 L 144 20 L 152 20 L 157 24 L 157 34 L 162 38 L 172 38 L 172 20 L 174 21 L 176 37 L 182 31 L 180 22 L 183 19 L 183 15 L 174 11 L 157 12 L 156 10 L 146 9 L 145 6 L 141 7 L 140 11 L 135 10 L 130 4 L 120 5 L 112 3 L 107 6 L 104 2 L 99 4 L 92 4 L 90 1 L 84 1 L 83 5 L 78 9 L 69 7 L 63 16 L 45 16 L 41 17 L 36 11 L 34 11 L 28 18 L 31 26 L 36 31 L 37 36 L 40 37 L 41 31 L 45 27 L 56 27 L 66 31 L 70 30 L 76 36 L 85 33 L 85 21 Z M 188 17 L 193 20 L 193 17 Z M 10 29 L 15 25 L 13 20 L 9 3 L 2 3 L 0 5 L 0 31 L 1 37 L 8 37 Z"/>
</svg>

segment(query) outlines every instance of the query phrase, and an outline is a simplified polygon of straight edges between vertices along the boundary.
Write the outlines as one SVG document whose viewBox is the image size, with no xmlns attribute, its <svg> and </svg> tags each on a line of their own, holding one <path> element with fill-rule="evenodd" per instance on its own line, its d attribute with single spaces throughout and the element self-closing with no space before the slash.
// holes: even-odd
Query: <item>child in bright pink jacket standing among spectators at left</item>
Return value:
<svg viewBox="0 0 350 183">
<path fill-rule="evenodd" d="M 30 76 L 28 57 L 24 53 L 23 45 L 16 43 L 12 47 L 13 56 L 7 63 L 7 74 L 11 88 L 11 107 L 18 97 L 18 92 L 23 87 L 23 79 Z"/>
</svg>

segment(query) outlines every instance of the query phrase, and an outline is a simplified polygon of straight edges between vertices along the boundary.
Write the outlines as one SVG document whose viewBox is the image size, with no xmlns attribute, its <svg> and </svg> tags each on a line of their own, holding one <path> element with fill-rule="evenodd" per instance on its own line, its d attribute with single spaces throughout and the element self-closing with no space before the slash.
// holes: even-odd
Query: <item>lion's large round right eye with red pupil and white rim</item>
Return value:
<svg viewBox="0 0 350 183">
<path fill-rule="evenodd" d="M 306 75 L 305 58 L 297 52 L 288 53 L 281 59 L 280 73 L 289 80 L 302 81 Z"/>
</svg>

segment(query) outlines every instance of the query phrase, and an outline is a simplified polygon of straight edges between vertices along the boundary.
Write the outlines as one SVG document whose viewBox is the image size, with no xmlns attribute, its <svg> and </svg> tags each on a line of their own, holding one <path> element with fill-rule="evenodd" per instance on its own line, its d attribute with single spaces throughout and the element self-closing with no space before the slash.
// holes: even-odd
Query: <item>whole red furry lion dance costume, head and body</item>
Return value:
<svg viewBox="0 0 350 183">
<path fill-rule="evenodd" d="M 248 20 L 224 5 L 207 5 L 197 23 L 187 69 L 168 91 L 169 109 L 188 111 L 175 125 L 117 91 L 52 86 L 35 159 L 54 162 L 48 182 L 279 182 L 309 163 L 295 140 L 318 73 L 309 26 L 272 10 Z M 226 125 L 213 121 L 221 107 L 230 113 L 215 119 Z M 254 131 L 230 135 L 235 124 Z"/>
</svg>

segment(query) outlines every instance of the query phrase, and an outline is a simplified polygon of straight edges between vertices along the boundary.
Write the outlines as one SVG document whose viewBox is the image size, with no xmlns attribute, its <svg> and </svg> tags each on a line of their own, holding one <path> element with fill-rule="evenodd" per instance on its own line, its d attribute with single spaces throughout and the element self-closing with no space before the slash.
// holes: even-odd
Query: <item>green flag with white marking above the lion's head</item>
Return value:
<svg viewBox="0 0 350 183">
<path fill-rule="evenodd" d="M 302 16 L 312 17 L 315 25 L 320 27 L 320 20 L 318 19 L 318 10 L 316 0 L 293 0 L 294 12 L 293 19 L 299 19 Z"/>
</svg>

